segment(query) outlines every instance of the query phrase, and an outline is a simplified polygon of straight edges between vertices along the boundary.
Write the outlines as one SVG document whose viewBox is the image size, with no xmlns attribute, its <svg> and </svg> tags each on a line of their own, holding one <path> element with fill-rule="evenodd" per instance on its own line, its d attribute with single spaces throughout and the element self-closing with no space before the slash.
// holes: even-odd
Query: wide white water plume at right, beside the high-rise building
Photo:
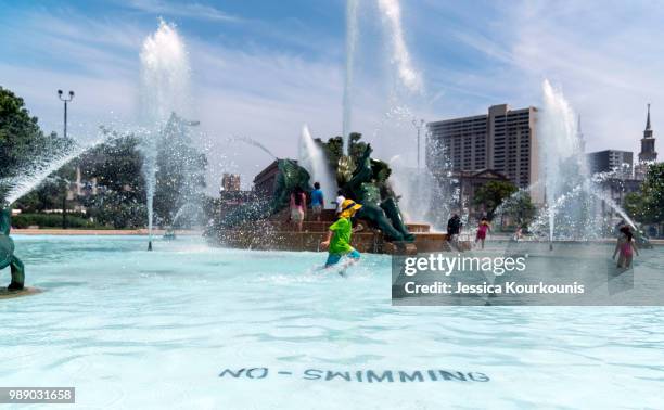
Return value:
<svg viewBox="0 0 664 410">
<path fill-rule="evenodd" d="M 546 236 L 549 249 L 553 248 L 554 241 L 589 241 L 610 231 L 613 225 L 603 218 L 602 203 L 638 231 L 625 210 L 600 188 L 603 180 L 620 170 L 590 174 L 576 118 L 562 91 L 545 80 L 537 132 L 541 178 L 505 200 L 496 212 L 503 215 L 523 195 L 544 188 L 546 206 L 528 223 L 528 231 L 535 238 Z"/>
</svg>

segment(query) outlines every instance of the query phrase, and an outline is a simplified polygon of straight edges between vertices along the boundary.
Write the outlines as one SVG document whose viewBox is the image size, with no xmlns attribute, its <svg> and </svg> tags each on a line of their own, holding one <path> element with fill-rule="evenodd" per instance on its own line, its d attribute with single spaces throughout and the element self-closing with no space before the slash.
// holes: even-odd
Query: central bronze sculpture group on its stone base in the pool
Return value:
<svg viewBox="0 0 664 410">
<path fill-rule="evenodd" d="M 342 137 L 322 142 L 310 139 L 306 130 L 303 137 L 303 145 L 309 141 L 319 146 L 320 154 L 315 155 L 319 167 L 334 168 L 337 164 L 336 182 L 342 192 L 362 205 L 356 218 L 365 229 L 353 235 L 353 246 L 358 251 L 388 254 L 449 251 L 445 234 L 430 232 L 429 225 L 404 221 L 390 181 L 392 170 L 386 163 L 371 157 L 372 148 L 360 141 L 360 134 L 353 134 L 352 155 L 345 156 L 348 158 L 345 163 L 339 161 L 344 157 Z M 206 229 L 208 240 L 213 244 L 239 248 L 318 251 L 322 236 L 335 218 L 334 210 L 325 209 L 321 221 L 305 220 L 303 231 L 294 230 L 286 220 L 289 198 L 295 188 L 311 191 L 312 181 L 306 167 L 316 169 L 312 165 L 316 162 L 311 162 L 308 155 L 303 155 L 299 164 L 292 159 L 278 159 L 273 193 L 216 217 Z M 346 168 L 347 165 L 352 167 Z M 336 185 L 334 182 L 328 184 Z"/>
</svg>

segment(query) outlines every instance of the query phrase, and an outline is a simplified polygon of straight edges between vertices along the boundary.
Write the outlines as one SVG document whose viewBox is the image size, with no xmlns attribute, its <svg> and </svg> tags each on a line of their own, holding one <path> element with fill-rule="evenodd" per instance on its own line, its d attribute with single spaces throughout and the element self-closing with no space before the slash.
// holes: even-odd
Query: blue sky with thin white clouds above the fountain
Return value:
<svg viewBox="0 0 664 410">
<path fill-rule="evenodd" d="M 661 1 L 403 0 L 404 40 L 423 84 L 416 93 L 395 86 L 376 1 L 359 2 L 354 128 L 383 157 L 412 164 L 413 116 L 537 106 L 544 78 L 582 114 L 589 151 L 637 151 L 649 102 L 655 137 L 664 124 Z M 46 130 L 61 129 L 59 88 L 77 92 L 77 138 L 131 121 L 141 44 L 163 17 L 187 43 L 210 179 L 240 171 L 247 185 L 269 157 L 226 138 L 252 137 L 296 156 L 303 124 L 315 136 L 341 132 L 345 8 L 342 0 L 0 0 L 0 85 L 23 95 Z"/>
</svg>

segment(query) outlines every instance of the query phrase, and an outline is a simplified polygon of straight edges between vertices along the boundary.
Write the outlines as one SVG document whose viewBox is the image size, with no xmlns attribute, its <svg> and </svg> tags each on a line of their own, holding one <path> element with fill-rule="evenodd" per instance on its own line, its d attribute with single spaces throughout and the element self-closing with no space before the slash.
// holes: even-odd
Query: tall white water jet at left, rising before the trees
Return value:
<svg viewBox="0 0 664 410">
<path fill-rule="evenodd" d="M 152 251 L 154 195 L 157 152 L 162 130 L 174 112 L 187 112 L 189 101 L 189 57 L 175 25 L 159 21 L 157 30 L 148 36 L 141 60 L 141 151 L 146 187 L 148 249 Z"/>
</svg>

